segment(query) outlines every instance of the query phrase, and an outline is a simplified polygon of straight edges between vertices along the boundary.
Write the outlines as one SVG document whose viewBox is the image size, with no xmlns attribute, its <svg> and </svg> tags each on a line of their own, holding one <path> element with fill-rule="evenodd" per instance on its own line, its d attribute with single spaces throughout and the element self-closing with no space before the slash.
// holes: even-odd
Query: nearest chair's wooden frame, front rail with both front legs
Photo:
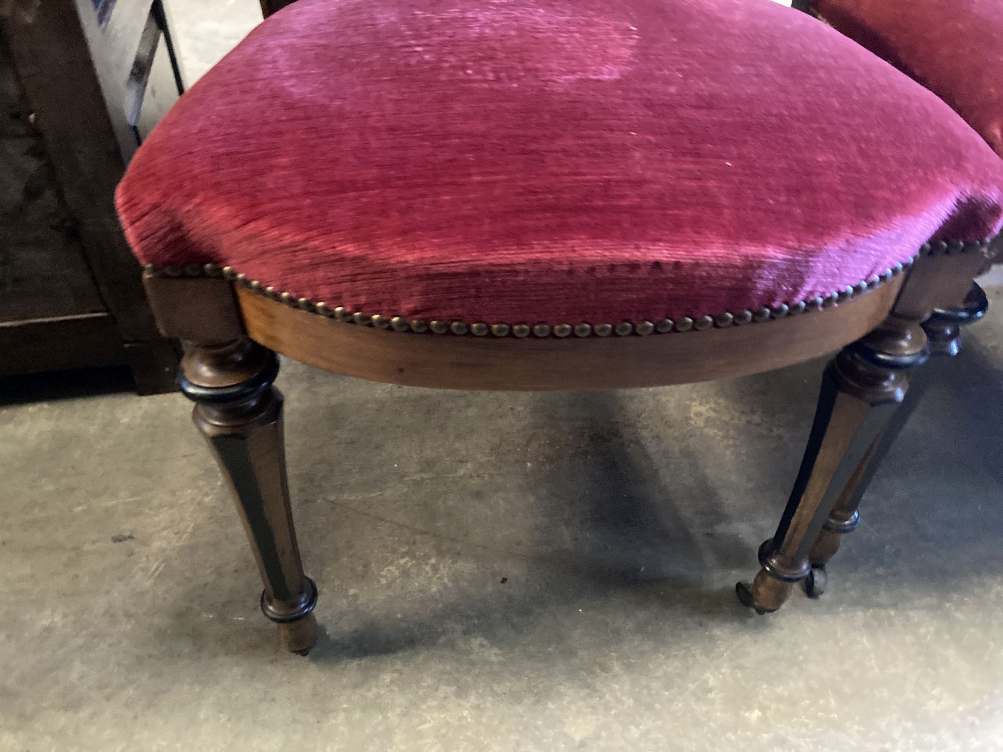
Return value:
<svg viewBox="0 0 1003 752">
<path fill-rule="evenodd" d="M 481 339 L 346 324 L 214 265 L 147 271 L 144 280 L 164 334 L 191 343 L 182 389 L 196 402 L 196 425 L 237 501 L 265 584 L 262 609 L 287 647 L 305 654 L 316 637 L 317 589 L 304 575 L 292 521 L 282 396 L 272 387 L 275 352 L 397 384 L 585 390 L 757 373 L 842 348 L 825 370 L 786 509 L 760 549 L 761 570 L 751 585 L 737 586 L 743 603 L 767 613 L 812 576 L 812 567 L 809 593 L 820 592 L 822 568 L 837 547 L 833 535 L 852 529 L 856 504 L 887 447 L 883 437 L 890 440 L 897 430 L 890 421 L 905 399 L 909 373 L 927 359 L 931 341 L 936 351 L 956 351 L 954 324 L 977 318 L 982 304 L 969 296 L 961 313 L 931 316 L 965 302 L 987 253 L 986 244 L 927 244 L 901 274 L 889 273 L 834 307 L 744 327 L 605 339 Z"/>
</svg>

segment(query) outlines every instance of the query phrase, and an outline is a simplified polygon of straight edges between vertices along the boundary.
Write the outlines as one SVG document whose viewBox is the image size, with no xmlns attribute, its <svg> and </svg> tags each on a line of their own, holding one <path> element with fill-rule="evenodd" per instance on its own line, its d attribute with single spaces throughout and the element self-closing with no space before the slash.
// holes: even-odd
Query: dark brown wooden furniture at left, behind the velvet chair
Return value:
<svg viewBox="0 0 1003 752">
<path fill-rule="evenodd" d="M 0 6 L 0 376 L 127 364 L 175 388 L 114 187 L 182 90 L 160 0 Z"/>
</svg>

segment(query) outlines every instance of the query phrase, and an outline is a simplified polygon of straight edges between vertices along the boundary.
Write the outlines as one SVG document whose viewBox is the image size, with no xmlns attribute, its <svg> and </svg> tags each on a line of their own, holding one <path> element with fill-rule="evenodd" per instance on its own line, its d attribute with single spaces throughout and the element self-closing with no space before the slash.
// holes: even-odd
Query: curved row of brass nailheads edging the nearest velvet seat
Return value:
<svg viewBox="0 0 1003 752">
<path fill-rule="evenodd" d="M 960 241 L 934 241 L 923 244 L 920 248 L 918 256 L 981 253 L 985 251 L 992 241 L 992 238 L 969 243 L 962 243 Z M 782 319 L 785 316 L 794 316 L 806 311 L 819 311 L 823 308 L 849 300 L 855 295 L 862 295 L 883 283 L 889 282 L 897 275 L 902 274 L 912 266 L 914 261 L 915 259 L 912 259 L 904 264 L 896 264 L 888 269 L 885 269 L 879 275 L 875 275 L 868 280 L 862 280 L 856 285 L 848 285 L 847 287 L 841 290 L 835 290 L 825 296 L 818 295 L 813 298 L 795 301 L 793 303 L 779 303 L 775 306 L 762 306 L 754 311 L 722 311 L 714 316 L 703 315 L 696 317 L 695 319 L 689 316 L 681 316 L 677 319 L 662 318 L 655 319 L 653 321 L 620 321 L 615 325 L 589 324 L 586 322 L 574 325 L 567 323 L 550 325 L 545 322 L 539 322 L 532 326 L 529 324 L 510 325 L 503 322 L 488 324 L 482 321 L 468 324 L 464 321 L 445 321 L 441 319 L 435 319 L 427 322 L 423 319 L 411 319 L 408 321 L 403 316 L 387 317 L 382 314 L 370 315 L 362 311 L 353 312 L 343 306 L 331 308 L 323 302 L 314 303 L 308 298 L 297 298 L 288 292 L 277 292 L 274 287 L 263 286 L 257 280 L 248 280 L 246 275 L 237 272 L 231 266 L 221 267 L 220 265 L 213 263 L 187 264 L 182 268 L 174 265 L 158 268 L 151 264 L 146 264 L 143 266 L 143 270 L 147 274 L 153 276 L 162 275 L 165 277 L 222 276 L 227 280 L 247 287 L 258 295 L 263 295 L 271 300 L 285 303 L 291 308 L 297 308 L 310 313 L 319 314 L 329 319 L 337 319 L 338 321 L 344 323 L 354 323 L 360 326 L 372 326 L 377 329 L 392 329 L 395 332 L 415 332 L 418 334 L 431 331 L 435 334 L 446 334 L 451 332 L 456 336 L 471 334 L 475 337 L 486 337 L 488 334 L 494 337 L 508 337 L 512 335 L 522 339 L 530 337 L 531 335 L 539 338 L 550 337 L 552 335 L 554 337 L 565 338 L 570 337 L 573 334 L 576 337 L 590 337 L 593 335 L 597 337 L 609 337 L 614 333 L 621 337 L 626 337 L 632 334 L 647 336 L 655 332 L 658 332 L 659 334 L 668 334 L 670 332 L 688 332 L 690 330 L 702 332 L 714 327 L 723 329 L 730 326 L 743 326 L 753 322 L 762 323 L 770 321 L 771 319 Z"/>
</svg>

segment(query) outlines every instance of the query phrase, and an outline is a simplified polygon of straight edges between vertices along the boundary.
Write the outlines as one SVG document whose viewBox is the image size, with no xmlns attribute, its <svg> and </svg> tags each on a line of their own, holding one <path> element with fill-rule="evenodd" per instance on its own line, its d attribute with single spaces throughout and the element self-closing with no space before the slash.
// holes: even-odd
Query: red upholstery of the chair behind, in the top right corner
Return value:
<svg viewBox="0 0 1003 752">
<path fill-rule="evenodd" d="M 815 10 L 944 99 L 1003 155 L 1003 0 L 816 0 Z"/>
</svg>

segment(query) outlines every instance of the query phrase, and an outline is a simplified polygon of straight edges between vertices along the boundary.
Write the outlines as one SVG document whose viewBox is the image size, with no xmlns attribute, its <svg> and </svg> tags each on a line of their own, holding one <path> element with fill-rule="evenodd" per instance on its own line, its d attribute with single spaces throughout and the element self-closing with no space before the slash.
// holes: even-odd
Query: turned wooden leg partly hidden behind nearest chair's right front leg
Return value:
<svg viewBox="0 0 1003 752">
<path fill-rule="evenodd" d="M 923 324 L 932 362 L 910 373 L 909 391 L 903 403 L 895 410 L 885 430 L 872 442 L 822 523 L 821 532 L 808 553 L 811 572 L 804 580 L 804 592 L 809 598 L 818 598 L 825 592 L 825 565 L 840 549 L 844 534 L 860 524 L 861 499 L 885 455 L 920 403 L 927 387 L 941 377 L 950 359 L 961 352 L 961 327 L 981 319 L 988 308 L 986 294 L 973 284 L 962 306 L 938 310 Z"/>
</svg>

